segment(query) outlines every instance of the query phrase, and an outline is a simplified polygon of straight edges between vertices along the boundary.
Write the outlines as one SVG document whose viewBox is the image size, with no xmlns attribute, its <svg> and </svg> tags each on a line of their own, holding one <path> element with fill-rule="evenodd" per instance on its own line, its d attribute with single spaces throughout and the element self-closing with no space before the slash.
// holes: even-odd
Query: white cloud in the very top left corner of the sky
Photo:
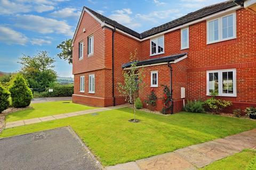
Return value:
<svg viewBox="0 0 256 170">
<path fill-rule="evenodd" d="M 0 14 L 26 13 L 31 11 L 30 5 L 0 0 Z"/>
</svg>

